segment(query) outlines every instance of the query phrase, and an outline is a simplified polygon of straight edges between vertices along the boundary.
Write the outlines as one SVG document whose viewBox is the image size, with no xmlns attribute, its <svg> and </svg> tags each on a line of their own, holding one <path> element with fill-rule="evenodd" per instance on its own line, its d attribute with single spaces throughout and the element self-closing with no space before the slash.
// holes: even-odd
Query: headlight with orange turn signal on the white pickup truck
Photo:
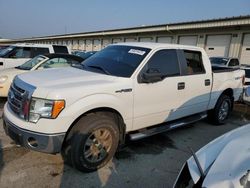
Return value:
<svg viewBox="0 0 250 188">
<path fill-rule="evenodd" d="M 29 121 L 36 123 L 40 118 L 56 118 L 65 107 L 64 100 L 32 98 Z"/>
</svg>

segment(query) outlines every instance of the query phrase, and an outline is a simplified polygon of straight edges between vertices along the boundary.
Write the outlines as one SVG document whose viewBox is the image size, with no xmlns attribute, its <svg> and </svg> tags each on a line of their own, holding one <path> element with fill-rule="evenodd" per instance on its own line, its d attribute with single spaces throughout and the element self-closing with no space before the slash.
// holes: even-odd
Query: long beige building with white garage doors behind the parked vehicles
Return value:
<svg viewBox="0 0 250 188">
<path fill-rule="evenodd" d="M 196 45 L 211 56 L 229 56 L 244 59 L 250 64 L 250 16 L 218 19 L 215 21 L 190 22 L 82 33 L 65 36 L 50 36 L 16 42 L 63 44 L 72 50 L 98 51 L 118 42 L 162 42 Z"/>
</svg>

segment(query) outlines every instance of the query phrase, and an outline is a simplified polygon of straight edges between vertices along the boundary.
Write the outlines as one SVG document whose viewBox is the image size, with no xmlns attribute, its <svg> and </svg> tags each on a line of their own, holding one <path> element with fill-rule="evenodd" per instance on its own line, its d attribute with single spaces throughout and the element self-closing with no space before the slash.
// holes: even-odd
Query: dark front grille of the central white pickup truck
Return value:
<svg viewBox="0 0 250 188">
<path fill-rule="evenodd" d="M 12 83 L 8 93 L 8 104 L 10 109 L 21 119 L 27 120 L 27 112 L 25 105 L 28 102 L 28 91 L 18 87 L 15 82 Z M 27 110 L 26 110 L 27 111 Z M 26 114 L 25 114 L 26 113 Z"/>
</svg>

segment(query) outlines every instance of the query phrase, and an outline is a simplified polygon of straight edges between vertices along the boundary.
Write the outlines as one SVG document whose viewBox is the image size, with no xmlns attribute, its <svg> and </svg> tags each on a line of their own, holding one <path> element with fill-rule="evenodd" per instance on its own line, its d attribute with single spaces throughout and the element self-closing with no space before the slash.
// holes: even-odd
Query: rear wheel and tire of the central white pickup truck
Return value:
<svg viewBox="0 0 250 188">
<path fill-rule="evenodd" d="M 222 125 L 232 111 L 232 99 L 228 95 L 221 95 L 213 110 L 208 112 L 208 120 L 215 125 Z"/>
</svg>

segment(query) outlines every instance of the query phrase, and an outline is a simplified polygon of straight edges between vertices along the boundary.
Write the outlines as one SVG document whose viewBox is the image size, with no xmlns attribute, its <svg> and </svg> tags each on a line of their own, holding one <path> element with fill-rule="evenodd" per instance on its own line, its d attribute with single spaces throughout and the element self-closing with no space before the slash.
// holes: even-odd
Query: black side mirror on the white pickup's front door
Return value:
<svg viewBox="0 0 250 188">
<path fill-rule="evenodd" d="M 163 80 L 163 75 L 158 69 L 148 69 L 139 76 L 139 83 L 155 83 Z"/>
</svg>

